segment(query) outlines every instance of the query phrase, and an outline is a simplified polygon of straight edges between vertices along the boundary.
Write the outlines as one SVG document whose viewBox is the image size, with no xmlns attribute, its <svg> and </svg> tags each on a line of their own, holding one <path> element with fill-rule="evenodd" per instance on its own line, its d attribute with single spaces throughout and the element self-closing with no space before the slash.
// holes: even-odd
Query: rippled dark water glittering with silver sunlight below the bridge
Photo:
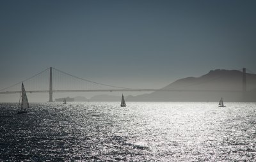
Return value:
<svg viewBox="0 0 256 162">
<path fill-rule="evenodd" d="M 255 161 L 256 103 L 0 103 L 0 161 Z"/>
</svg>

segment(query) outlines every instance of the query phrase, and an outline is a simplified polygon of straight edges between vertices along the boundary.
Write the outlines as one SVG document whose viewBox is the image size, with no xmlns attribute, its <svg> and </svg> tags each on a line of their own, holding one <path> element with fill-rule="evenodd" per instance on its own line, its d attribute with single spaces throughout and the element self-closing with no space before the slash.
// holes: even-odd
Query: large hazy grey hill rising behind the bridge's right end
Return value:
<svg viewBox="0 0 256 162">
<path fill-rule="evenodd" d="M 256 75 L 246 73 L 246 93 L 243 93 L 243 73 L 237 70 L 211 70 L 201 77 L 176 80 L 162 89 L 127 101 L 256 101 Z"/>
</svg>

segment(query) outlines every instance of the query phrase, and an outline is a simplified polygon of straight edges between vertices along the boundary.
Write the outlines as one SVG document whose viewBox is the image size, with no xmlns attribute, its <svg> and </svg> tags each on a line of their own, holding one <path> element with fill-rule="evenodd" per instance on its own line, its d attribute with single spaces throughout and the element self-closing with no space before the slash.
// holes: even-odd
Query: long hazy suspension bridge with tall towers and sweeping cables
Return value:
<svg viewBox="0 0 256 162">
<path fill-rule="evenodd" d="M 246 91 L 246 68 L 243 70 L 243 85 L 241 91 L 225 92 L 245 92 Z M 65 83 L 61 82 L 65 80 Z M 23 80 L 27 93 L 49 93 L 49 102 L 52 102 L 52 94 L 55 92 L 125 92 L 125 91 L 223 91 L 223 90 L 193 90 L 193 89 L 134 89 L 129 87 L 119 87 L 115 85 L 93 82 L 84 78 L 76 77 L 56 68 L 47 68 L 32 77 Z M 20 93 L 20 84 L 13 84 L 0 90 L 0 94 Z M 65 87 L 65 89 L 63 89 Z"/>
</svg>

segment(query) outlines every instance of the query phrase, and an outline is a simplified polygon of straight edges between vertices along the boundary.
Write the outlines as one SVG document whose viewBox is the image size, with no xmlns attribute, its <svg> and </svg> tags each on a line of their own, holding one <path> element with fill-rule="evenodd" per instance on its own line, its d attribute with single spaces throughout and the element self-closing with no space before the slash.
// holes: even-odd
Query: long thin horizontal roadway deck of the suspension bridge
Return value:
<svg viewBox="0 0 256 162">
<path fill-rule="evenodd" d="M 195 90 L 195 89 L 90 89 L 90 90 L 52 90 L 52 92 L 154 92 L 154 91 L 175 91 L 175 92 L 242 92 L 242 91 L 228 91 L 228 90 Z M 26 91 L 27 93 L 42 93 L 47 92 L 48 90 L 43 91 Z M 20 93 L 20 91 L 4 91 L 0 92 L 0 94 L 15 94 Z"/>
</svg>

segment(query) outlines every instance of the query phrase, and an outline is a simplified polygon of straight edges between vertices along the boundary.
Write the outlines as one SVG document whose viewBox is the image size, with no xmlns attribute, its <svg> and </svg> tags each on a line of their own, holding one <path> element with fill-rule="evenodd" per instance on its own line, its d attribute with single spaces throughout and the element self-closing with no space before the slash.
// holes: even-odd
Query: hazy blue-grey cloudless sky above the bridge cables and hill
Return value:
<svg viewBox="0 0 256 162">
<path fill-rule="evenodd" d="M 159 88 L 209 70 L 256 71 L 256 1 L 1 1 L 0 89 L 50 66 Z"/>
</svg>

